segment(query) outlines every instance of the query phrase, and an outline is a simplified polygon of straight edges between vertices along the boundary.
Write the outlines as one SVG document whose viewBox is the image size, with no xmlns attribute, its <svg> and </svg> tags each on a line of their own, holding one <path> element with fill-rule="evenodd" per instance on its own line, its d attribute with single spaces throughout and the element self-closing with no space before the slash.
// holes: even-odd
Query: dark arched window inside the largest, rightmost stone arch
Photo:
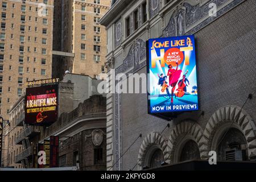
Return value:
<svg viewBox="0 0 256 182">
<path fill-rule="evenodd" d="M 246 139 L 243 133 L 232 128 L 218 138 L 218 160 L 248 160 Z"/>
</svg>

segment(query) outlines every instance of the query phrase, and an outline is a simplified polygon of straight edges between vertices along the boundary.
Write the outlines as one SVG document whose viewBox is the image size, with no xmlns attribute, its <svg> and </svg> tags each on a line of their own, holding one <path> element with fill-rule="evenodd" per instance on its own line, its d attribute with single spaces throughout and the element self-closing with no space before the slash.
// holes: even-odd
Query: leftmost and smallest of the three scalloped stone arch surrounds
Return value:
<svg viewBox="0 0 256 182">
<path fill-rule="evenodd" d="M 147 137 L 144 138 L 141 147 L 139 148 L 138 170 L 142 170 L 142 164 L 146 159 L 147 151 L 153 144 L 158 146 L 163 151 L 165 160 L 168 157 L 166 139 L 159 133 L 151 132 L 150 134 L 147 135 Z"/>
</svg>

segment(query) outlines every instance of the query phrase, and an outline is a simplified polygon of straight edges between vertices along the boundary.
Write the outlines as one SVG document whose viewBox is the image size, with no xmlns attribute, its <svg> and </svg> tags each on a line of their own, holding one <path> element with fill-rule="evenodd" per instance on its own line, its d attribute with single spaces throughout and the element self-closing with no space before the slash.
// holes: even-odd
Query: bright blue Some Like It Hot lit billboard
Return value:
<svg viewBox="0 0 256 182">
<path fill-rule="evenodd" d="M 148 113 L 199 110 L 193 35 L 147 41 Z"/>
</svg>

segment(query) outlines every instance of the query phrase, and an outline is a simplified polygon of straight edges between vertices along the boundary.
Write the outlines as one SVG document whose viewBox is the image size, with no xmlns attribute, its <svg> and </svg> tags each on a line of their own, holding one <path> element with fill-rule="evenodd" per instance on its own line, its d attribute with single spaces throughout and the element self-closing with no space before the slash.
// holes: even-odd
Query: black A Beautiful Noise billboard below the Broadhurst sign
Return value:
<svg viewBox="0 0 256 182">
<path fill-rule="evenodd" d="M 26 89 L 25 123 L 49 125 L 58 114 L 58 85 L 44 85 Z"/>
</svg>

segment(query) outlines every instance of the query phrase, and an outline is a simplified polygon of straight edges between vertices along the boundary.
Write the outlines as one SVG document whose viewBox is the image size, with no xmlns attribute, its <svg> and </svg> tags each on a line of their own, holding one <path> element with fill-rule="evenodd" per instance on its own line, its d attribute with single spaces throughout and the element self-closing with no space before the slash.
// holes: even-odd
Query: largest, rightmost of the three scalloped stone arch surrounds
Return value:
<svg viewBox="0 0 256 182">
<path fill-rule="evenodd" d="M 255 158 L 256 127 L 253 119 L 241 107 L 228 105 L 215 111 L 205 127 L 204 135 L 199 142 L 202 159 L 208 159 L 208 152 L 216 150 L 218 138 L 233 121 L 232 127 L 240 130 L 246 138 L 249 159 Z"/>
</svg>

